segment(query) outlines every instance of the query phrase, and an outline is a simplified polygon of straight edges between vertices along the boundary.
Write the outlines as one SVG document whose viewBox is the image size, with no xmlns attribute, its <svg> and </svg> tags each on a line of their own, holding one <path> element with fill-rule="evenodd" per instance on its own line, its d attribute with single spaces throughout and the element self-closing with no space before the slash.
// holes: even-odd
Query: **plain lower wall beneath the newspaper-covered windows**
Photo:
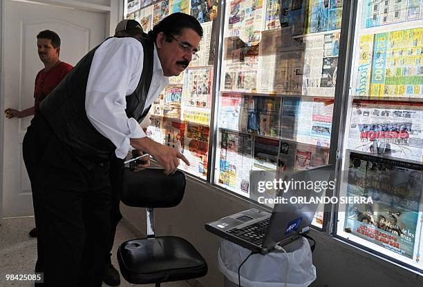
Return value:
<svg viewBox="0 0 423 287">
<path fill-rule="evenodd" d="M 249 202 L 187 177 L 182 203 L 176 208 L 156 210 L 156 235 L 178 235 L 193 244 L 209 264 L 209 273 L 200 278 L 205 287 L 223 286 L 217 269 L 219 238 L 204 224 L 252 208 Z M 145 233 L 145 210 L 121 204 L 127 224 Z M 364 253 L 321 232 L 312 231 L 317 241 L 313 262 L 317 268 L 314 287 L 422 287 L 423 277 L 383 259 Z"/>
</svg>

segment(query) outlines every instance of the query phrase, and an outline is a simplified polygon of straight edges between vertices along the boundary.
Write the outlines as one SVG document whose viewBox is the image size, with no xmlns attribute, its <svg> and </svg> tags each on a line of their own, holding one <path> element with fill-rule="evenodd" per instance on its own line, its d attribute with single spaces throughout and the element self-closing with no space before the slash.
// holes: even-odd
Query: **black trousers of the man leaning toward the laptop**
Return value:
<svg viewBox="0 0 423 287">
<path fill-rule="evenodd" d="M 109 164 L 87 170 L 41 115 L 23 139 L 42 286 L 101 286 L 110 238 Z"/>
</svg>

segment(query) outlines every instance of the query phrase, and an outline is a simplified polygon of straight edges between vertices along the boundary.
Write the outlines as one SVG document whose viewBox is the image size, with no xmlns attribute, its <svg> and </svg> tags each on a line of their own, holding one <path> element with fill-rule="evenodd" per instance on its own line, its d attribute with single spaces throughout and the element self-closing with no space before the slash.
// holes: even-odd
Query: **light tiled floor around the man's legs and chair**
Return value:
<svg viewBox="0 0 423 287">
<path fill-rule="evenodd" d="M 32 274 L 37 259 L 37 239 L 28 236 L 28 231 L 34 228 L 33 217 L 3 219 L 0 226 L 0 286 L 32 286 L 23 281 L 6 281 L 6 274 Z M 119 268 L 116 250 L 120 243 L 135 236 L 122 224 L 119 224 L 112 251 L 112 261 Z M 127 283 L 121 276 L 121 287 L 136 286 Z M 103 287 L 108 285 L 103 284 Z M 153 287 L 154 284 L 142 285 Z M 163 287 L 189 287 L 184 281 L 162 284 Z"/>
</svg>

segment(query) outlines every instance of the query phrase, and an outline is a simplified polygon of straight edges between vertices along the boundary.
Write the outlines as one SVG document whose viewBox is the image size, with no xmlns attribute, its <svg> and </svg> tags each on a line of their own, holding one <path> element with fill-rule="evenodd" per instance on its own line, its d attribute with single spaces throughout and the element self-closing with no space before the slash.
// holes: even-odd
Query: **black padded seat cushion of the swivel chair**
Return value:
<svg viewBox="0 0 423 287">
<path fill-rule="evenodd" d="M 207 274 L 196 248 L 180 237 L 133 239 L 118 249 L 120 273 L 132 284 L 187 280 Z"/>
</svg>

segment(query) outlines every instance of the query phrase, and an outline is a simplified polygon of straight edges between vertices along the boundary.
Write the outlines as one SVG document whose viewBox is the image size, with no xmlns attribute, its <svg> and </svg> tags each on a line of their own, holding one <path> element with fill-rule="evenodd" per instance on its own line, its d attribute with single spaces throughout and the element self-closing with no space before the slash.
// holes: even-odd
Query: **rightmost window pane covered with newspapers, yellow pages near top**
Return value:
<svg viewBox="0 0 423 287">
<path fill-rule="evenodd" d="M 337 233 L 422 270 L 421 0 L 360 0 Z"/>
</svg>

